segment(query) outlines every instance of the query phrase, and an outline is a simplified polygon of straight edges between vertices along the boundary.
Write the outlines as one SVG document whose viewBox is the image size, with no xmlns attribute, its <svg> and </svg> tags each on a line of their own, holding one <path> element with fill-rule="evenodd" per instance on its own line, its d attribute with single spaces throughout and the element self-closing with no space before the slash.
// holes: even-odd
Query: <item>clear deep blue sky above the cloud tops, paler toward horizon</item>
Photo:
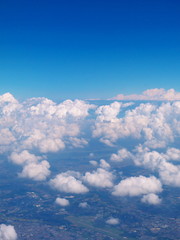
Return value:
<svg viewBox="0 0 180 240">
<path fill-rule="evenodd" d="M 180 91 L 180 1 L 0 1 L 0 94 Z"/>
</svg>

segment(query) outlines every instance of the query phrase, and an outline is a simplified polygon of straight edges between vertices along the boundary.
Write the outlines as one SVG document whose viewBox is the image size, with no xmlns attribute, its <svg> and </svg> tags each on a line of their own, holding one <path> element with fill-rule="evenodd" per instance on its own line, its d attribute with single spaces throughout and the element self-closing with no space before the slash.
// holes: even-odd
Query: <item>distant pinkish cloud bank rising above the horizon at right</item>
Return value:
<svg viewBox="0 0 180 240">
<path fill-rule="evenodd" d="M 156 101 L 174 101 L 180 100 L 180 92 L 174 89 L 165 90 L 164 88 L 154 88 L 144 91 L 142 94 L 123 95 L 118 94 L 111 100 L 156 100 Z"/>
</svg>

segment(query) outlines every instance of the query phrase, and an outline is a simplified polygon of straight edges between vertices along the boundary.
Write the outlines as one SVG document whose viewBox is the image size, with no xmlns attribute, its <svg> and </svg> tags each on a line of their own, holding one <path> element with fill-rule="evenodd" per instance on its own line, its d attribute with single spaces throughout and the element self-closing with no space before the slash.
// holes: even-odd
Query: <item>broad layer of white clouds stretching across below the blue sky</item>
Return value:
<svg viewBox="0 0 180 240">
<path fill-rule="evenodd" d="M 124 100 L 177 100 L 178 96 L 174 90 L 153 89 Z M 160 204 L 157 193 L 163 185 L 180 186 L 179 136 L 180 101 L 115 101 L 95 106 L 81 100 L 57 104 L 47 98 L 19 102 L 10 93 L 0 96 L 0 153 L 21 166 L 19 177 L 47 181 L 59 192 L 82 194 L 95 187 L 114 196 L 142 196 L 143 203 Z M 131 147 L 123 146 L 124 139 Z M 93 171 L 67 169 L 53 175 L 49 153 L 83 148 L 94 140 L 115 150 L 99 159 L 88 152 L 85 159 Z M 125 177 L 113 168 L 123 161 L 147 168 L 152 175 Z M 56 203 L 69 204 L 64 198 Z"/>
</svg>

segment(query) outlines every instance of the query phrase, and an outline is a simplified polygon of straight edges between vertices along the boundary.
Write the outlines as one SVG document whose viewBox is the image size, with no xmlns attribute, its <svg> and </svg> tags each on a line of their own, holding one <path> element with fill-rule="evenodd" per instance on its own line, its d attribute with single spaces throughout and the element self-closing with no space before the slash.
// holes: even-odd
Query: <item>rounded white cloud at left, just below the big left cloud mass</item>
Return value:
<svg viewBox="0 0 180 240">
<path fill-rule="evenodd" d="M 36 181 L 43 181 L 50 175 L 49 168 L 50 165 L 46 160 L 40 163 L 28 163 L 23 167 L 19 176 L 31 178 Z"/>
</svg>

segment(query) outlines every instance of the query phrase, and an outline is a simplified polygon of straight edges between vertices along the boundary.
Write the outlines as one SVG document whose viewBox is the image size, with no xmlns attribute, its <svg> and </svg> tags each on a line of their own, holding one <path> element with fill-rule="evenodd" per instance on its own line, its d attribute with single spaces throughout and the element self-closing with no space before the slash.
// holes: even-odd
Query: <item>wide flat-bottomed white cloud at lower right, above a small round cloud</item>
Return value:
<svg viewBox="0 0 180 240">
<path fill-rule="evenodd" d="M 161 182 L 154 176 L 130 177 L 120 181 L 114 186 L 112 192 L 115 196 L 138 196 L 162 191 Z"/>
</svg>

